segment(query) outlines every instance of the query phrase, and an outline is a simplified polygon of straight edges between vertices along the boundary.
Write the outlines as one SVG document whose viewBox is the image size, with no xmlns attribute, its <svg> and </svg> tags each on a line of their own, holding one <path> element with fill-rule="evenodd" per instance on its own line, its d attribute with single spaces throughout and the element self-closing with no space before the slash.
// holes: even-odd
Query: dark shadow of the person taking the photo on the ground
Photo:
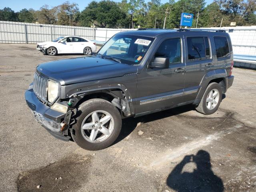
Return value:
<svg viewBox="0 0 256 192">
<path fill-rule="evenodd" d="M 196 164 L 193 172 L 182 172 L 190 162 Z M 222 179 L 214 174 L 211 168 L 210 154 L 199 150 L 196 155 L 185 156 L 169 174 L 166 184 L 177 192 L 222 192 Z"/>
</svg>

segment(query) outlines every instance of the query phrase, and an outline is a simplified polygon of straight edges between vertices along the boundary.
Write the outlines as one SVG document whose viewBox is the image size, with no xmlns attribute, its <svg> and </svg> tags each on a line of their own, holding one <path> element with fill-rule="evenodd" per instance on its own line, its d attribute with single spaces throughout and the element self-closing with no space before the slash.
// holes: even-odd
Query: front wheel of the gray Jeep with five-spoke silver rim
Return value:
<svg viewBox="0 0 256 192">
<path fill-rule="evenodd" d="M 71 133 L 78 146 L 86 150 L 101 150 L 110 146 L 120 134 L 121 115 L 110 102 L 90 99 L 78 107 L 79 112 Z"/>
</svg>

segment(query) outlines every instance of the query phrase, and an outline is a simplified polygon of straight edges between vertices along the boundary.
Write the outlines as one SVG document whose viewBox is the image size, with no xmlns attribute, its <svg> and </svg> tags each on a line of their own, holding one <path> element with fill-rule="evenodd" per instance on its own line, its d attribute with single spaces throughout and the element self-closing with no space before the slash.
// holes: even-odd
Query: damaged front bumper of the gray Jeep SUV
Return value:
<svg viewBox="0 0 256 192">
<path fill-rule="evenodd" d="M 70 140 L 68 130 L 61 131 L 61 123 L 65 119 L 66 113 L 52 110 L 49 106 L 40 102 L 33 92 L 32 84 L 25 92 L 25 99 L 36 121 L 46 128 L 50 134 L 60 140 Z"/>
</svg>

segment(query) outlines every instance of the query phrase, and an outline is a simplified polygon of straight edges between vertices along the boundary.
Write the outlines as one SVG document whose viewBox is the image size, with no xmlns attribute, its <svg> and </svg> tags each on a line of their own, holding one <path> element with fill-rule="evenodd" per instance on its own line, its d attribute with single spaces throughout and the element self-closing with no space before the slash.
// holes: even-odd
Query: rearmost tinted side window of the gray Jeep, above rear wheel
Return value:
<svg viewBox="0 0 256 192">
<path fill-rule="evenodd" d="M 226 37 L 214 37 L 217 58 L 229 57 L 228 40 Z"/>
</svg>

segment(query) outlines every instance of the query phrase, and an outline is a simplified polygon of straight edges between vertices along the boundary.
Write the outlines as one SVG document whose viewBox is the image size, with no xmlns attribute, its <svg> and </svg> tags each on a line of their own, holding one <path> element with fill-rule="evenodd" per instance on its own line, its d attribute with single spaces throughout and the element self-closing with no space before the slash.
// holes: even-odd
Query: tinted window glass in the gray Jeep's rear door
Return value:
<svg viewBox="0 0 256 192">
<path fill-rule="evenodd" d="M 188 37 L 188 60 L 204 60 L 210 58 L 207 37 Z"/>
</svg>

